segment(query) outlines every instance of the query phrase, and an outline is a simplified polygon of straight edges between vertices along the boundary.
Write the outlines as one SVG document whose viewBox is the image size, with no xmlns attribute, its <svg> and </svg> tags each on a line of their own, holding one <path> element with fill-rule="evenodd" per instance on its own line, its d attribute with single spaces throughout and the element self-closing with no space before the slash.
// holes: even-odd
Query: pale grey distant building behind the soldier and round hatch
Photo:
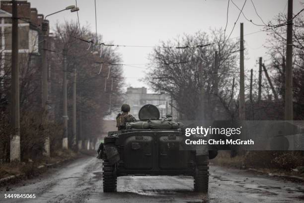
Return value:
<svg viewBox="0 0 304 203">
<path fill-rule="evenodd" d="M 175 108 L 171 107 L 171 97 L 166 94 L 148 94 L 147 88 L 127 88 L 125 94 L 121 94 L 122 103 L 127 103 L 131 107 L 130 113 L 138 119 L 138 112 L 141 107 L 145 104 L 153 104 L 159 109 L 160 117 L 165 117 L 166 114 L 172 114 L 173 118 L 177 118 L 177 111 Z M 171 112 L 173 111 L 173 112 Z M 111 115 L 105 116 L 104 119 L 114 120 L 120 109 L 117 109 Z"/>
</svg>

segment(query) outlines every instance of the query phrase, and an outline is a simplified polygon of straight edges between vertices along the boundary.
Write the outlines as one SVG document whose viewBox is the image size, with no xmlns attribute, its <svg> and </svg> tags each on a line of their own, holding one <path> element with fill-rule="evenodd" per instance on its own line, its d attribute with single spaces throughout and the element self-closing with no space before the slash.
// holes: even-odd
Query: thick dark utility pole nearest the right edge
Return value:
<svg viewBox="0 0 304 203">
<path fill-rule="evenodd" d="M 285 120 L 293 120 L 293 0 L 288 0 L 285 76 Z"/>
</svg>

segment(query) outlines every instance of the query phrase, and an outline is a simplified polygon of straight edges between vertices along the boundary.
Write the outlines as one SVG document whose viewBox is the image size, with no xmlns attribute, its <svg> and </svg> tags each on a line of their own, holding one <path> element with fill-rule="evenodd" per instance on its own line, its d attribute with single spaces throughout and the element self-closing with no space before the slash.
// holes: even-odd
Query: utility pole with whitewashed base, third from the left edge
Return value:
<svg viewBox="0 0 304 203">
<path fill-rule="evenodd" d="M 64 118 L 64 136 L 62 140 L 62 148 L 68 149 L 69 142 L 68 142 L 68 94 L 67 94 L 67 49 L 63 49 L 63 118 Z"/>
</svg>

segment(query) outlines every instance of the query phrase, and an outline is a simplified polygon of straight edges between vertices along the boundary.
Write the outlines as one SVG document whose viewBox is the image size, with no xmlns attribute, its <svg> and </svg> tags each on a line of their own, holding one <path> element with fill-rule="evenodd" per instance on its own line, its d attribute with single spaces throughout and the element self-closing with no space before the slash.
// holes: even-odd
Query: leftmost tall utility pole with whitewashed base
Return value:
<svg viewBox="0 0 304 203">
<path fill-rule="evenodd" d="M 13 133 L 10 137 L 10 162 L 20 162 L 20 104 L 19 104 L 19 67 L 18 67 L 18 11 L 17 1 L 12 0 L 11 30 L 11 112 Z"/>
</svg>

